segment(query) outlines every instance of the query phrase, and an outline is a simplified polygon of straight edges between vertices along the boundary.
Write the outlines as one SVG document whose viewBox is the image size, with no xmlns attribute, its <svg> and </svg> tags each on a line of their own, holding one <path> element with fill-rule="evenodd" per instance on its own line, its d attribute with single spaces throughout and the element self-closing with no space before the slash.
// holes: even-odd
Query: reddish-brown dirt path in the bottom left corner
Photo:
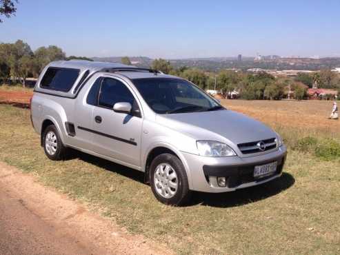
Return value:
<svg viewBox="0 0 340 255">
<path fill-rule="evenodd" d="M 1 254 L 170 254 L 1 162 L 0 230 Z"/>
</svg>

